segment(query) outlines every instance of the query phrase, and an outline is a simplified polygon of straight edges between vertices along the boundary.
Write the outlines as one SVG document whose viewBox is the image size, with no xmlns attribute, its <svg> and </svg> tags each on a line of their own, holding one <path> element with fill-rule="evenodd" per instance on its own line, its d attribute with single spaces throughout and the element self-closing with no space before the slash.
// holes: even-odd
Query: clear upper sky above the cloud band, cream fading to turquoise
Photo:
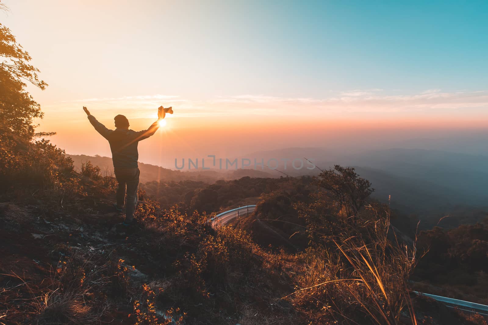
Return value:
<svg viewBox="0 0 488 325">
<path fill-rule="evenodd" d="M 156 83 L 188 96 L 322 97 L 488 84 L 487 1 L 4 2 L 12 12 L 2 21 L 41 63 L 50 40 L 67 55 L 79 46 L 78 56 L 87 51 L 90 60 L 99 47 L 109 81 L 132 75 L 143 87 Z M 37 39 L 32 46 L 30 38 Z M 167 69 L 168 60 L 179 69 Z M 120 73 L 132 68 L 123 64 L 141 73 Z"/>
</svg>

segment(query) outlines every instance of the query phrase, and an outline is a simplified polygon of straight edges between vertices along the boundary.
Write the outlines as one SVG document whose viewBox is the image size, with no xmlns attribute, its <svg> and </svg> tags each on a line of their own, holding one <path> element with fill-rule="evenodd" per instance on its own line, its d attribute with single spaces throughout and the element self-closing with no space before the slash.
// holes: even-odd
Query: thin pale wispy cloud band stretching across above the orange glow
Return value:
<svg viewBox="0 0 488 325">
<path fill-rule="evenodd" d="M 381 89 L 336 92 L 328 98 L 286 97 L 266 95 L 218 96 L 206 100 L 189 100 L 175 95 L 137 95 L 106 98 L 86 98 L 65 101 L 63 105 L 78 106 L 89 103 L 90 107 L 105 112 L 128 112 L 134 115 L 152 116 L 156 107 L 173 105 L 181 112 L 178 116 L 242 116 L 296 114 L 341 116 L 350 113 L 415 113 L 431 110 L 463 110 L 488 108 L 488 91 L 442 92 L 429 89 L 417 94 L 387 95 Z M 71 105 L 70 105 L 71 103 Z M 46 107 L 46 106 L 44 106 Z M 61 109 L 62 110 L 62 109 Z M 136 114 L 137 113 L 137 114 Z"/>
</svg>

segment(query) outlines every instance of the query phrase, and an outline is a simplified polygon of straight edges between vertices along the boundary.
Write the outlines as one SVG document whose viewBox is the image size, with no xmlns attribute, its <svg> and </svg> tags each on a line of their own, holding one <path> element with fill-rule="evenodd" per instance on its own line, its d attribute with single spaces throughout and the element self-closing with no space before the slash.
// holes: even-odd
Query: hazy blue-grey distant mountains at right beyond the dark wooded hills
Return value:
<svg viewBox="0 0 488 325">
<path fill-rule="evenodd" d="M 488 156 L 485 155 L 402 148 L 341 155 L 320 148 L 286 148 L 246 156 L 312 157 L 317 167 L 324 170 L 335 164 L 353 166 L 361 177 L 372 183 L 373 197 L 387 202 L 391 195 L 392 206 L 408 213 L 488 206 Z M 320 171 L 288 168 L 285 172 L 297 176 L 317 175 Z"/>
</svg>

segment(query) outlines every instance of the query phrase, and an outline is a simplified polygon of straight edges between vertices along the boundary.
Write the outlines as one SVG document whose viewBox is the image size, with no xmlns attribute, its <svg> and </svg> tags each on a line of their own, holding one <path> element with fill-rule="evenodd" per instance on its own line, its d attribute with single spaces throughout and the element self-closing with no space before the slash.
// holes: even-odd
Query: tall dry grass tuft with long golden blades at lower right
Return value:
<svg viewBox="0 0 488 325">
<path fill-rule="evenodd" d="M 321 321 L 396 325 L 409 315 L 416 325 L 407 286 L 416 263 L 415 246 L 391 242 L 389 231 L 388 217 L 369 219 L 332 239 L 335 249 L 309 249 L 305 272 L 289 295 L 292 303 L 313 306 L 317 313 L 309 312 L 310 317 Z"/>
</svg>

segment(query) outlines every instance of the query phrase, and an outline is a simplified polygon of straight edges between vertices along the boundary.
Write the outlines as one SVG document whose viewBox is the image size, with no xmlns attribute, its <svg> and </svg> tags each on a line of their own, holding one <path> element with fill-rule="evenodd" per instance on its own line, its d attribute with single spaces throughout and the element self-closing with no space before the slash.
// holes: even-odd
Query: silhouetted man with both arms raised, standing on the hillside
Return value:
<svg viewBox="0 0 488 325">
<path fill-rule="evenodd" d="M 98 133 L 108 140 L 110 150 L 112 151 L 112 161 L 114 163 L 114 173 L 117 182 L 117 203 L 114 207 L 122 211 L 125 201 L 125 192 L 127 188 L 127 205 L 125 207 L 124 226 L 130 226 L 134 221 L 134 211 L 138 201 L 137 190 L 139 187 L 139 167 L 137 160 L 139 153 L 137 145 L 139 141 L 147 139 L 155 134 L 159 128 L 159 121 L 164 118 L 164 109 L 161 106 L 158 109 L 158 120 L 151 124 L 149 129 L 143 131 L 133 131 L 129 129 L 129 121 L 124 115 L 114 117 L 115 130 L 107 129 L 102 123 L 90 115 L 90 112 L 83 106 L 83 110 L 88 115 L 88 120 Z"/>
</svg>

